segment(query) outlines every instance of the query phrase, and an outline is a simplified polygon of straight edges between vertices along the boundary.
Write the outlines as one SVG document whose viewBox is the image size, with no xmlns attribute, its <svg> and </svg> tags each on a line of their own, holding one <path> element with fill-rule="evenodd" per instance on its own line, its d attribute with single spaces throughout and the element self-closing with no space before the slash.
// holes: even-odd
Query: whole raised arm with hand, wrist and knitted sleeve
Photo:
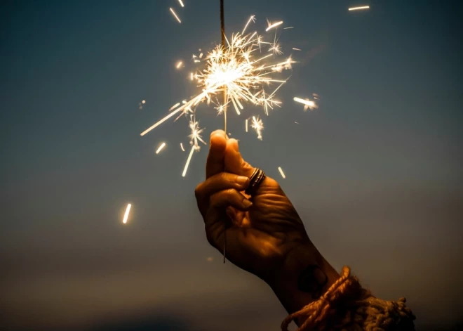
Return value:
<svg viewBox="0 0 463 331">
<path fill-rule="evenodd" d="M 238 141 L 211 135 L 206 180 L 195 195 L 206 238 L 227 258 L 264 280 L 302 330 L 414 330 L 405 299 L 384 301 L 361 287 L 344 267 L 338 274 L 312 244 L 300 216 L 279 183 L 268 176 L 252 186 L 255 168 L 243 160 Z"/>
</svg>

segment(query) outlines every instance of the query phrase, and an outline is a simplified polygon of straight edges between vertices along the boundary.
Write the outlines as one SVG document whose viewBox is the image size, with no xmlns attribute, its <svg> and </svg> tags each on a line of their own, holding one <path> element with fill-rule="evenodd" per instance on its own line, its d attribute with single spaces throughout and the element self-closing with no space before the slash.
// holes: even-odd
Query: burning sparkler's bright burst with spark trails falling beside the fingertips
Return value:
<svg viewBox="0 0 463 331">
<path fill-rule="evenodd" d="M 174 12 L 173 14 L 175 15 Z M 175 17 L 177 16 L 175 15 Z M 195 63 L 196 61 L 203 63 L 203 67 L 199 67 L 195 74 L 191 73 L 189 76 L 189 79 L 196 82 L 199 87 L 199 94 L 189 100 L 184 100 L 182 104 L 173 105 L 166 117 L 160 119 L 141 134 L 141 136 L 145 136 L 156 126 L 175 115 L 177 115 L 175 120 L 183 115 L 190 115 L 191 134 L 189 138 L 192 149 L 189 152 L 182 176 L 187 173 L 193 152 L 199 150 L 199 143 L 205 143 L 201 138 L 203 129 L 199 128 L 199 123 L 195 119 L 198 105 L 213 103 L 217 105 L 215 107 L 217 112 L 224 116 L 226 116 L 227 105 L 232 105 L 238 115 L 241 114 L 241 110 L 244 110 L 244 103 L 260 105 L 266 115 L 269 115 L 269 110 L 274 109 L 275 106 L 281 107 L 281 102 L 275 99 L 275 93 L 286 82 L 286 79 L 276 79 L 273 74 L 291 69 L 291 65 L 295 61 L 289 57 L 282 62 L 265 62 L 282 53 L 276 34 L 273 43 L 263 41 L 263 37 L 257 32 L 245 34 L 251 22 L 255 22 L 254 15 L 246 22 L 242 32 L 232 34 L 230 39 L 224 37 L 224 45 L 213 48 L 207 53 L 204 60 L 199 60 L 203 57 L 203 53 L 199 56 L 193 56 Z M 267 31 L 281 24 L 283 21 L 269 23 Z M 271 53 L 259 56 L 262 44 L 269 44 Z M 180 65 L 182 64 L 177 63 L 177 67 Z M 276 88 L 267 91 L 272 84 L 277 84 Z M 224 94 L 224 100 L 223 103 L 219 103 L 216 100 L 222 94 Z M 262 120 L 254 116 L 251 127 L 255 129 L 257 138 L 262 139 Z"/>
</svg>

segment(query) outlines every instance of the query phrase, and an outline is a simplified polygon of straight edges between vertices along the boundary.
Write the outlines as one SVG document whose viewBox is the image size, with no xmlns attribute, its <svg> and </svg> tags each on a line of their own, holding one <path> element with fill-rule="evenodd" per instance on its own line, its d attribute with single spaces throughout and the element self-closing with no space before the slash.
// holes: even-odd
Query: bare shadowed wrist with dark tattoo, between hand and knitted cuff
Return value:
<svg viewBox="0 0 463 331">
<path fill-rule="evenodd" d="M 311 243 L 293 249 L 282 270 L 267 280 L 288 313 L 316 301 L 340 277 Z"/>
</svg>

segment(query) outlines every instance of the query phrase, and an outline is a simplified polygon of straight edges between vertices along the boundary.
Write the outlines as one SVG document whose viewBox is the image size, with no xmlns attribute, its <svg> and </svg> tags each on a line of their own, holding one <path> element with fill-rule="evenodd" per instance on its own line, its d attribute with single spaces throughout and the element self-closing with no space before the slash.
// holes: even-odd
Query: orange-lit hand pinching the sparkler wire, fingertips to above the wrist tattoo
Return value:
<svg viewBox="0 0 463 331">
<path fill-rule="evenodd" d="M 243 193 L 253 171 L 241 157 L 238 141 L 215 131 L 210 138 L 206 181 L 195 193 L 210 245 L 222 252 L 227 224 L 229 261 L 269 283 L 293 272 L 293 268 L 288 270 L 291 252 L 300 247 L 306 257 L 307 252 L 317 252 L 300 216 L 274 179 L 267 176 L 253 197 Z"/>
</svg>

